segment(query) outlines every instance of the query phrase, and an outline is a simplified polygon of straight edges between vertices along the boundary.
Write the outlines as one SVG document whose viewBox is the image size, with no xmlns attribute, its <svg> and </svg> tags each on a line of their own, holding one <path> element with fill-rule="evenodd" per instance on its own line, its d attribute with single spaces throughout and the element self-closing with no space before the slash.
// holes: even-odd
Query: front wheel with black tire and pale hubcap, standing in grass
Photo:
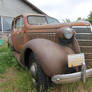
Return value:
<svg viewBox="0 0 92 92">
<path fill-rule="evenodd" d="M 34 53 L 30 54 L 29 60 L 29 69 L 32 73 L 32 80 L 33 83 L 35 82 L 34 84 L 37 89 L 37 92 L 47 92 L 51 83 L 50 78 L 44 74 Z"/>
</svg>

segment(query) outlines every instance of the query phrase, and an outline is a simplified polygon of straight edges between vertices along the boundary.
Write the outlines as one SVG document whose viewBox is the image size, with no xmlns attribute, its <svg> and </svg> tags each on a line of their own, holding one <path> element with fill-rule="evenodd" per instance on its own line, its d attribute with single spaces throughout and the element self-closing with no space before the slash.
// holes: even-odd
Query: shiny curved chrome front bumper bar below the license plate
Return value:
<svg viewBox="0 0 92 92">
<path fill-rule="evenodd" d="M 92 77 L 92 68 L 85 71 L 85 78 Z M 82 72 L 54 75 L 51 80 L 55 84 L 66 84 L 76 82 L 82 79 Z"/>
</svg>

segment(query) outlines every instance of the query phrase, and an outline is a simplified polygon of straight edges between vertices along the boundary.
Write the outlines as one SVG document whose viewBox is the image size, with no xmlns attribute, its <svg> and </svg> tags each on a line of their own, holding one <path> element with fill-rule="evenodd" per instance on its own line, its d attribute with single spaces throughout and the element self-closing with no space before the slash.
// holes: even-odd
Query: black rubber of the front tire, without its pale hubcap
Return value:
<svg viewBox="0 0 92 92">
<path fill-rule="evenodd" d="M 48 88 L 50 87 L 51 83 L 50 78 L 44 74 L 34 53 L 30 53 L 29 60 L 29 67 L 31 67 L 32 63 L 35 63 L 37 65 L 37 74 L 35 77 L 37 92 L 48 92 Z"/>
</svg>

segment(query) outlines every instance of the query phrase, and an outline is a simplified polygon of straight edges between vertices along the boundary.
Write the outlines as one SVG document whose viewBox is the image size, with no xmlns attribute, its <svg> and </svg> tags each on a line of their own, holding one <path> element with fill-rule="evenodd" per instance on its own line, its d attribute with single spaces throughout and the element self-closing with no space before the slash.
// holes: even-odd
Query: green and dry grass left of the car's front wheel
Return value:
<svg viewBox="0 0 92 92">
<path fill-rule="evenodd" d="M 0 92 L 32 92 L 31 74 L 19 66 L 11 50 L 0 48 Z"/>
</svg>

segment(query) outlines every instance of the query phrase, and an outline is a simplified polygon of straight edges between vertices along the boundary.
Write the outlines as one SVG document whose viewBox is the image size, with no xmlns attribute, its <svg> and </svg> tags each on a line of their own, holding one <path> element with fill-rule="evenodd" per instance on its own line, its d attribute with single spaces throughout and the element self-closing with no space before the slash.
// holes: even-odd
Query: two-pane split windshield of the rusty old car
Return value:
<svg viewBox="0 0 92 92">
<path fill-rule="evenodd" d="M 58 24 L 58 20 L 49 16 L 28 16 L 28 23 L 30 25 L 45 25 L 45 24 Z"/>
</svg>

